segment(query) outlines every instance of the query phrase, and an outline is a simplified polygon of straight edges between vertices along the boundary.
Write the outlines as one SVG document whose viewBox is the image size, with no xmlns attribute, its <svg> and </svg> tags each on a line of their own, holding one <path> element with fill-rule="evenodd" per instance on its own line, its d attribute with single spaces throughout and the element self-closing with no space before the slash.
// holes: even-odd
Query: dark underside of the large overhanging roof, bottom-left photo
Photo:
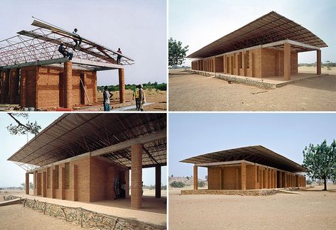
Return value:
<svg viewBox="0 0 336 230">
<path fill-rule="evenodd" d="M 8 160 L 33 170 L 90 153 L 130 168 L 138 139 L 143 168 L 166 165 L 166 114 L 63 114 Z"/>
</svg>

